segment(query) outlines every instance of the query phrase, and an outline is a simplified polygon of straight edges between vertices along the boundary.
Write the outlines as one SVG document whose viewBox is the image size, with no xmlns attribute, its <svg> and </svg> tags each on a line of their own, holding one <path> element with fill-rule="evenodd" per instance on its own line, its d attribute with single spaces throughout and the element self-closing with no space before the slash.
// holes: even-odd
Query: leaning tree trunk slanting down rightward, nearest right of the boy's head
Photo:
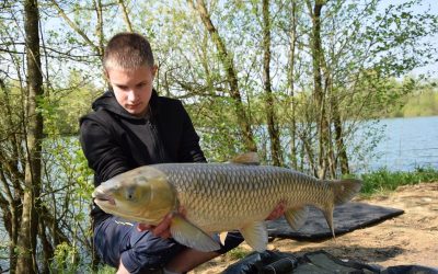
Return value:
<svg viewBox="0 0 438 274">
<path fill-rule="evenodd" d="M 257 147 L 254 141 L 253 130 L 251 129 L 251 122 L 246 116 L 242 102 L 242 96 L 240 94 L 238 75 L 235 73 L 232 57 L 229 55 L 222 38 L 220 37 L 218 31 L 210 20 L 210 15 L 207 11 L 204 0 L 197 0 L 196 7 L 194 5 L 192 0 L 188 0 L 188 3 L 199 13 L 199 16 L 205 27 L 210 34 L 210 37 L 219 52 L 219 59 L 227 73 L 227 81 L 230 85 L 230 96 L 233 100 L 234 111 L 240 130 L 243 136 L 244 147 L 247 151 L 257 151 Z"/>
</svg>

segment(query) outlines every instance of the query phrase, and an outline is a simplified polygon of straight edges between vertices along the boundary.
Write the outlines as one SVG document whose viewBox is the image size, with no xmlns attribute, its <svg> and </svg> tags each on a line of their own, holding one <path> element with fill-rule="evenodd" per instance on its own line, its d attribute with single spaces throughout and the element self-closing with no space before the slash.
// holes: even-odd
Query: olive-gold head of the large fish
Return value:
<svg viewBox="0 0 438 274">
<path fill-rule="evenodd" d="M 166 175 L 152 167 L 118 174 L 97 186 L 92 196 L 105 213 L 150 225 L 160 222 L 177 204 Z"/>
</svg>

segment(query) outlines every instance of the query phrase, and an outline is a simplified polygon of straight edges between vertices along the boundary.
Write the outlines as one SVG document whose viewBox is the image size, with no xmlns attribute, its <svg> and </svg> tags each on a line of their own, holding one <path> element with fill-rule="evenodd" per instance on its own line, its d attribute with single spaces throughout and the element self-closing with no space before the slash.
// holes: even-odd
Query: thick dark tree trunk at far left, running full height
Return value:
<svg viewBox="0 0 438 274">
<path fill-rule="evenodd" d="M 37 112 L 38 100 L 43 95 L 43 76 L 39 56 L 38 4 L 36 0 L 24 2 L 24 27 L 27 64 L 27 113 L 26 113 L 26 151 L 23 213 L 18 239 L 19 258 L 16 273 L 37 273 L 36 236 L 37 214 L 36 199 L 41 190 L 41 140 L 43 136 L 43 117 Z"/>
</svg>

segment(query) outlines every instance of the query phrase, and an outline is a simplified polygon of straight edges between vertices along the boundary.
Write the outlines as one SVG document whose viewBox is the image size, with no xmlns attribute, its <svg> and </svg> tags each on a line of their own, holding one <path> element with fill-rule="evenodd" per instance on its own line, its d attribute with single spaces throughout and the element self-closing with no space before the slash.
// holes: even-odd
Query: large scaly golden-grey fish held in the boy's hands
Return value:
<svg viewBox="0 0 438 274">
<path fill-rule="evenodd" d="M 239 229 L 256 251 L 266 249 L 264 220 L 281 202 L 293 229 L 306 221 L 307 206 L 319 207 L 333 229 L 335 205 L 349 201 L 361 186 L 358 180 L 324 181 L 278 167 L 255 165 L 246 153 L 231 163 L 162 163 L 140 167 L 102 183 L 94 202 L 106 213 L 127 220 L 159 224 L 175 214 L 172 237 L 182 244 L 214 251 L 210 235 Z M 244 164 L 246 163 L 246 164 Z"/>
</svg>

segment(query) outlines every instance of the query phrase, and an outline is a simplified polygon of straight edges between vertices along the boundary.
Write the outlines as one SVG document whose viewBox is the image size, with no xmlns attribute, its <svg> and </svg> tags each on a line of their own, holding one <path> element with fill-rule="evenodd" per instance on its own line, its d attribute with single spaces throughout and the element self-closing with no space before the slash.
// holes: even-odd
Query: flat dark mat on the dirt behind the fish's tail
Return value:
<svg viewBox="0 0 438 274">
<path fill-rule="evenodd" d="M 404 212 L 396 208 L 369 205 L 364 203 L 347 203 L 337 206 L 333 214 L 335 235 L 343 235 L 357 228 L 376 225 L 385 219 L 399 216 Z M 318 241 L 332 238 L 327 222 L 318 208 L 310 207 L 307 221 L 300 230 L 295 231 L 285 218 L 267 221 L 269 237 L 289 238 L 295 240 Z"/>
</svg>

